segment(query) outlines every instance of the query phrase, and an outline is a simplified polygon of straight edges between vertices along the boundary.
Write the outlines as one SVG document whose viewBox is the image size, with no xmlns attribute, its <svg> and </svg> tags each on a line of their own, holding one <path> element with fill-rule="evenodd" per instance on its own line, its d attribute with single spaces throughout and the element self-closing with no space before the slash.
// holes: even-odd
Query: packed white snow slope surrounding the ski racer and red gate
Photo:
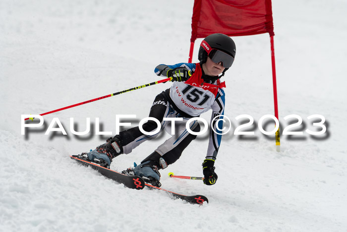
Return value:
<svg viewBox="0 0 347 232">
<path fill-rule="evenodd" d="M 116 114 L 147 117 L 154 97 L 170 82 L 44 116 L 44 125 L 21 135 L 21 115 L 41 114 L 158 79 L 158 64 L 187 62 L 193 0 L 0 0 L 0 231 L 312 231 L 347 228 L 346 60 L 347 2 L 274 1 L 275 55 L 281 128 L 311 129 L 323 115 L 321 136 L 281 137 L 258 129 L 273 114 L 268 34 L 234 37 L 236 60 L 226 81 L 225 114 L 233 129 L 216 160 L 218 181 L 170 179 L 202 176 L 208 138 L 198 136 L 174 164 L 161 170 L 163 187 L 202 194 L 203 206 L 164 192 L 131 190 L 82 167 L 69 155 L 95 149 L 115 135 Z M 197 62 L 195 43 L 193 62 Z M 254 136 L 233 135 L 235 117 L 251 115 Z M 45 135 L 53 118 L 67 135 Z M 91 132 L 75 136 L 75 130 Z M 201 116 L 209 120 L 210 112 Z M 315 119 L 319 122 L 318 119 Z M 245 121 L 247 122 L 247 121 Z M 32 122 L 37 123 L 37 121 Z M 265 125 L 265 124 L 264 124 Z M 58 127 L 57 124 L 54 125 Z M 128 128 L 128 127 L 124 127 Z M 264 126 L 267 131 L 273 124 Z M 167 138 L 163 134 L 111 165 L 139 163 Z"/>
</svg>

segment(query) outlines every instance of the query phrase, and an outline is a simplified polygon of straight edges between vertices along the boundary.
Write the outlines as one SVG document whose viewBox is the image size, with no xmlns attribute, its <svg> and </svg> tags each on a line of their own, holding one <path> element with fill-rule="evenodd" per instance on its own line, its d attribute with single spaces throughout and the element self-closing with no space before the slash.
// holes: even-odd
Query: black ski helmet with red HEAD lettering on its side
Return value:
<svg viewBox="0 0 347 232">
<path fill-rule="evenodd" d="M 207 45 L 206 45 L 207 43 Z M 229 55 L 231 55 L 233 58 L 235 58 L 236 54 L 236 46 L 234 41 L 227 35 L 221 34 L 221 33 L 215 33 L 207 36 L 200 44 L 200 49 L 199 49 L 199 55 L 198 59 L 201 64 L 206 63 L 207 61 L 207 52 L 206 48 L 212 48 L 212 49 L 217 49 L 221 50 Z M 227 71 L 228 68 L 225 69 Z M 225 72 L 224 71 L 224 72 Z M 224 74 L 223 72 L 223 74 Z"/>
</svg>

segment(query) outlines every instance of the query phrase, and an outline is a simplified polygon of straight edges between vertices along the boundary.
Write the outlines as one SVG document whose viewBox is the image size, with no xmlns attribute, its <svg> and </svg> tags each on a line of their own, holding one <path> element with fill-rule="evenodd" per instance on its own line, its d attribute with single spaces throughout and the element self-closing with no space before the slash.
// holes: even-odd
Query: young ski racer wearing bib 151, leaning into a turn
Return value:
<svg viewBox="0 0 347 232">
<path fill-rule="evenodd" d="M 165 129 L 171 133 L 171 127 L 174 126 L 175 135 L 131 170 L 135 175 L 155 186 L 161 185 L 159 170 L 174 163 L 190 142 L 196 138 L 196 135 L 188 133 L 185 128 L 186 122 L 190 118 L 198 117 L 212 109 L 211 128 L 214 128 L 216 132 L 221 132 L 219 129 L 223 127 L 222 121 L 219 121 L 218 127 L 216 122 L 219 119 L 218 116 L 224 114 L 225 92 L 223 87 L 225 87 L 225 82 L 221 82 L 220 78 L 231 67 L 235 53 L 235 43 L 229 36 L 212 34 L 201 42 L 198 55 L 200 63 L 158 65 L 155 68 L 156 75 L 171 77 L 173 84 L 156 96 L 149 117 L 159 120 L 161 131 Z M 163 120 L 163 118 L 176 118 L 181 121 L 171 122 Z M 153 132 L 157 126 L 155 121 L 149 120 L 143 124 L 142 128 L 146 132 Z M 200 131 L 199 123 L 196 120 L 192 121 L 189 127 L 193 132 Z M 105 144 L 85 155 L 91 161 L 97 158 L 110 165 L 116 156 L 131 153 L 141 143 L 154 139 L 158 134 L 145 135 L 139 127 L 134 127 L 111 137 Z M 210 131 L 207 155 L 202 163 L 206 185 L 215 184 L 218 178 L 214 163 L 221 138 L 222 135 L 213 130 Z"/>
</svg>

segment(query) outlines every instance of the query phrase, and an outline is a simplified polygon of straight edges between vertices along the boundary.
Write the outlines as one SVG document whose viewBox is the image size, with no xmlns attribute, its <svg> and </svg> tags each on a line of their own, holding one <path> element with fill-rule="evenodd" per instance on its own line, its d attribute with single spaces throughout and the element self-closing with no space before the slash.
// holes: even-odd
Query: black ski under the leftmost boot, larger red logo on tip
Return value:
<svg viewBox="0 0 347 232">
<path fill-rule="evenodd" d="M 100 174 L 102 174 L 103 176 L 110 178 L 118 183 L 124 184 L 126 187 L 128 188 L 132 188 L 132 189 L 143 189 L 145 187 L 145 181 L 136 175 L 124 175 L 122 173 L 116 172 L 114 170 L 111 170 L 109 168 L 100 166 L 96 163 L 93 163 L 91 161 L 88 160 L 83 160 L 80 158 L 77 158 L 75 156 L 71 156 L 70 157 L 74 160 L 76 160 L 77 162 L 85 165 L 85 166 L 90 166 L 93 169 L 97 170 Z"/>
</svg>

